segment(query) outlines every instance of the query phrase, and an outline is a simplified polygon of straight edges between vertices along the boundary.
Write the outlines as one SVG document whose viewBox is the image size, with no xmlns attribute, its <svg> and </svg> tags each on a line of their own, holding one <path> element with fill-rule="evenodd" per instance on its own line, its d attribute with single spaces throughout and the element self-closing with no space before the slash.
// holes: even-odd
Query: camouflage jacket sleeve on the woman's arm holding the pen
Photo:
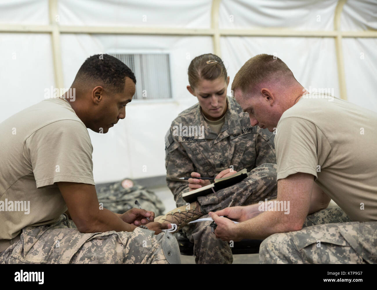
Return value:
<svg viewBox="0 0 377 290">
<path fill-rule="evenodd" d="M 177 207 L 185 205 L 182 193 L 189 191 L 187 180 L 179 180 L 180 177 L 190 177 L 194 171 L 194 164 L 187 155 L 178 139 L 173 136 L 169 129 L 165 136 L 165 166 L 166 182 L 174 195 Z"/>
</svg>

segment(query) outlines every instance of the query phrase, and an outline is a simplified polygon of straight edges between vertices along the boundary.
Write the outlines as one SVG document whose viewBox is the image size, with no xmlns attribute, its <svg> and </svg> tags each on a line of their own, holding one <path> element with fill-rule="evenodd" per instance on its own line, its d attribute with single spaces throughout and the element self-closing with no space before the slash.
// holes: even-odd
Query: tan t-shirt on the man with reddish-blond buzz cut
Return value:
<svg viewBox="0 0 377 290">
<path fill-rule="evenodd" d="M 352 221 L 377 221 L 377 114 L 329 100 L 302 97 L 283 113 L 275 136 L 277 179 L 312 174 Z"/>
</svg>

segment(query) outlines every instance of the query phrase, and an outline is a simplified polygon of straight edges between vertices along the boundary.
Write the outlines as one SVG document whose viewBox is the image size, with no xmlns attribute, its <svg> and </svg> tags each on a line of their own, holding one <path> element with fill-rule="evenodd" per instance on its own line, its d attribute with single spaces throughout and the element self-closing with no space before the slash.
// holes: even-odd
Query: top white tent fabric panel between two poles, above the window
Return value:
<svg viewBox="0 0 377 290">
<path fill-rule="evenodd" d="M 209 28 L 210 0 L 64 0 L 61 25 Z"/>
</svg>

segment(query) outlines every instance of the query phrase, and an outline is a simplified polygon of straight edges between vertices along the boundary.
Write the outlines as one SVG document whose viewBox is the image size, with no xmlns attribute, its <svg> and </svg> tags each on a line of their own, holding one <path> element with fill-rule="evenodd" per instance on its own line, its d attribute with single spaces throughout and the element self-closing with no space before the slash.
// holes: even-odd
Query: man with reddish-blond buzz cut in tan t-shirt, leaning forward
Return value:
<svg viewBox="0 0 377 290">
<path fill-rule="evenodd" d="M 376 113 L 310 94 L 267 54 L 241 67 L 232 90 L 251 125 L 276 134 L 277 199 L 209 213 L 216 237 L 268 237 L 261 263 L 376 263 Z M 349 219 L 332 219 L 331 198 Z M 305 221 L 308 214 L 316 222 Z"/>
</svg>

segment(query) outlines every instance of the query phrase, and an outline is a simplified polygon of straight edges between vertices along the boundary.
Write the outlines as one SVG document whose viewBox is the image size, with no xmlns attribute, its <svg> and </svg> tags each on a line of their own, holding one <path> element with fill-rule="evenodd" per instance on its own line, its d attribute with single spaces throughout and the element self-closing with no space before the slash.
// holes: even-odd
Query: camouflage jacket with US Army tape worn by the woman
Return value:
<svg viewBox="0 0 377 290">
<path fill-rule="evenodd" d="M 180 113 L 167 131 L 166 181 L 177 206 L 185 204 L 181 195 L 189 191 L 187 181 L 178 178 L 191 177 L 193 171 L 203 177 L 215 177 L 231 166 L 235 171 L 247 168 L 249 172 L 263 163 L 276 163 L 273 133 L 252 127 L 248 114 L 234 98 L 227 97 L 227 103 L 225 122 L 218 135 L 204 121 L 199 103 Z M 204 131 L 196 131 L 198 136 L 185 136 L 184 126 L 198 126 Z"/>
</svg>

